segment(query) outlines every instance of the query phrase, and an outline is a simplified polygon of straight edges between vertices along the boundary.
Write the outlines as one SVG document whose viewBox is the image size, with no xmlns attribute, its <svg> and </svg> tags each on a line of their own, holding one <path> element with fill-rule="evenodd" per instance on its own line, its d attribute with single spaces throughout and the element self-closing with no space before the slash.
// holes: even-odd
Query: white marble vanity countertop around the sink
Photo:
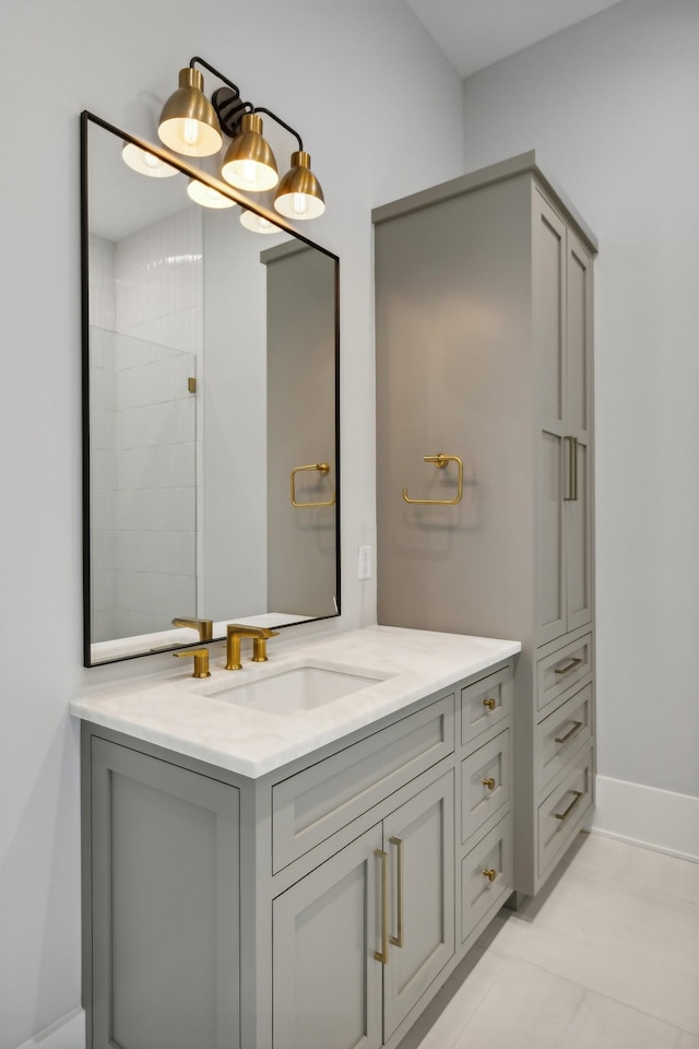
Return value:
<svg viewBox="0 0 699 1049">
<path fill-rule="evenodd" d="M 226 671 L 214 650 L 211 676 L 193 679 L 189 661 L 177 672 L 75 698 L 75 718 L 156 743 L 244 776 L 258 777 L 342 739 L 463 677 L 487 671 L 521 649 L 519 641 L 370 626 L 300 643 L 269 661 Z M 270 714 L 216 698 L 215 693 L 299 667 L 377 679 L 351 695 L 294 714 Z"/>
</svg>

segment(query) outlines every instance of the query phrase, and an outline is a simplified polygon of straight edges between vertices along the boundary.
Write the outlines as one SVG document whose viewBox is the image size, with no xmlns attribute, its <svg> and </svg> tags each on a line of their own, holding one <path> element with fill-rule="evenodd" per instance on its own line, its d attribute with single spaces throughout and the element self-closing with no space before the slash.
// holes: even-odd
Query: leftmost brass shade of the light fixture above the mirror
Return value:
<svg viewBox="0 0 699 1049">
<path fill-rule="evenodd" d="M 223 145 L 216 111 L 203 89 L 204 78 L 198 69 L 180 69 L 179 87 L 161 114 L 161 141 L 183 156 L 211 156 Z"/>
</svg>

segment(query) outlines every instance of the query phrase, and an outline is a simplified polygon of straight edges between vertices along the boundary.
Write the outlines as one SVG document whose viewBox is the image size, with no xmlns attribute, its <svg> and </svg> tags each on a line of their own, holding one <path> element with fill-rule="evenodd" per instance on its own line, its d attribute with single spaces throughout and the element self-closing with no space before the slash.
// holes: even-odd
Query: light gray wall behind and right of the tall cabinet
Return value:
<svg viewBox="0 0 699 1049">
<path fill-rule="evenodd" d="M 599 771 L 699 794 L 699 4 L 627 0 L 474 74 L 467 168 L 536 148 L 600 239 Z"/>
</svg>

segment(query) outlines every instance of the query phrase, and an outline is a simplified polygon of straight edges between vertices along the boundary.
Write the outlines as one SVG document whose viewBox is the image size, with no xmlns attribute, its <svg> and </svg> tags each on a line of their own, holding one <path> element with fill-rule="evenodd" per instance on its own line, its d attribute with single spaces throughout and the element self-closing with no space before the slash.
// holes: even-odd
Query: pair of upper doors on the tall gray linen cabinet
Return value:
<svg viewBox="0 0 699 1049">
<path fill-rule="evenodd" d="M 592 260 L 534 190 L 536 644 L 592 618 Z"/>
</svg>

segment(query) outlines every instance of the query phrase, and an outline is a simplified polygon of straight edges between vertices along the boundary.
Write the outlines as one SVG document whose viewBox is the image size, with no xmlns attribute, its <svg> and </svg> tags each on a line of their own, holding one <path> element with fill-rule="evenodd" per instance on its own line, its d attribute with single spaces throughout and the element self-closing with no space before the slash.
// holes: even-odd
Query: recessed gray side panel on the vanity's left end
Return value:
<svg viewBox="0 0 699 1049">
<path fill-rule="evenodd" d="M 237 1049 L 239 792 L 92 741 L 92 1049 Z"/>
</svg>

